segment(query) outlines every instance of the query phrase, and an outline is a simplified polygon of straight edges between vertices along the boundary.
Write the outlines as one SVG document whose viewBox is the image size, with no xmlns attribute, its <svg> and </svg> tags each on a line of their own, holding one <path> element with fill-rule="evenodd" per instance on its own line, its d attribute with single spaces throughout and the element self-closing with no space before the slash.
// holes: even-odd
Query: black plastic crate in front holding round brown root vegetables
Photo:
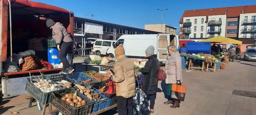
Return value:
<svg viewBox="0 0 256 115">
<path fill-rule="evenodd" d="M 87 103 L 80 107 L 75 107 L 67 104 L 61 98 L 68 93 L 75 93 L 75 89 L 67 88 L 52 92 L 51 104 L 65 115 L 89 115 L 92 112 L 94 101 L 90 101 L 81 93 L 77 93 L 77 96 L 86 100 Z"/>
</svg>

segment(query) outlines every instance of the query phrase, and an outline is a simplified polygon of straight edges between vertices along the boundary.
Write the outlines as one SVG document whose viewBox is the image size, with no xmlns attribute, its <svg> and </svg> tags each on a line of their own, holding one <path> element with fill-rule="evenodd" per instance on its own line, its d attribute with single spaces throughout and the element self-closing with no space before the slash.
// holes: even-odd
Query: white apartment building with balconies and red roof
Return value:
<svg viewBox="0 0 256 115">
<path fill-rule="evenodd" d="M 179 23 L 180 39 L 224 36 L 255 42 L 256 5 L 184 11 Z"/>
</svg>

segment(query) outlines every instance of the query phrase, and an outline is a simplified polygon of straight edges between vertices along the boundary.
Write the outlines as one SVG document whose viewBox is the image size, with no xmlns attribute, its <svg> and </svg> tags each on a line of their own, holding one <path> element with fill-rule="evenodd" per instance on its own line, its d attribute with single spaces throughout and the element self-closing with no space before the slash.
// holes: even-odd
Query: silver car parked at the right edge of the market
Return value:
<svg viewBox="0 0 256 115">
<path fill-rule="evenodd" d="M 244 52 L 245 60 L 256 61 L 256 45 L 247 45 Z"/>
</svg>

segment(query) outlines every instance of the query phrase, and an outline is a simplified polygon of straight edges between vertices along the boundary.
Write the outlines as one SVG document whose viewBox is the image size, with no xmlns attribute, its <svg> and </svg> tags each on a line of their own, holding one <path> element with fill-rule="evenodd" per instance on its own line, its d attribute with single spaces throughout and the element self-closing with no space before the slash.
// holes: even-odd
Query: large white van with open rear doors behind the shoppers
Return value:
<svg viewBox="0 0 256 115">
<path fill-rule="evenodd" d="M 123 44 L 128 58 L 138 59 L 139 61 L 147 59 L 145 50 L 152 45 L 155 48 L 154 54 L 157 54 L 160 65 L 163 65 L 168 55 L 167 47 L 169 45 L 178 47 L 179 40 L 178 35 L 172 34 L 122 35 L 113 47 L 108 48 L 107 56 L 114 57 L 114 50 L 119 44 Z"/>
</svg>

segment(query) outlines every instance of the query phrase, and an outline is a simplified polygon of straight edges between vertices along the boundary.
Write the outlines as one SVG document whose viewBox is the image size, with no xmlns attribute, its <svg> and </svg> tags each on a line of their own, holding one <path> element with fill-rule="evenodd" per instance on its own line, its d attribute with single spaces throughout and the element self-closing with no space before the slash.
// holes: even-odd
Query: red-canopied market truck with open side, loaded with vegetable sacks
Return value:
<svg viewBox="0 0 256 115">
<path fill-rule="evenodd" d="M 0 84 L 2 97 L 8 98 L 27 93 L 25 87 L 29 74 L 31 76 L 40 73 L 53 74 L 62 70 L 62 68 L 53 68 L 5 73 L 2 71 L 2 66 L 7 58 L 12 58 L 12 53 L 28 50 L 27 40 L 51 36 L 50 29 L 46 26 L 47 19 L 62 23 L 73 38 L 74 13 L 53 5 L 28 0 L 1 0 L 0 11 Z M 47 58 L 47 51 L 35 51 L 35 55 L 44 59 Z"/>
</svg>

